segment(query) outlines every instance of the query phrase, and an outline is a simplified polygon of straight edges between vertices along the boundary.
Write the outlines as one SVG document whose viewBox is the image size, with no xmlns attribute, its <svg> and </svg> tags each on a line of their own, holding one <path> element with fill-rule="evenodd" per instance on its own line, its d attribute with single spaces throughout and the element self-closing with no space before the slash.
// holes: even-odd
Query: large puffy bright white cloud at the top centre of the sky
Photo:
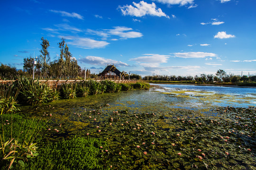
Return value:
<svg viewBox="0 0 256 170">
<path fill-rule="evenodd" d="M 119 6 L 119 8 L 121 9 L 124 16 L 130 15 L 135 17 L 143 17 L 146 15 L 150 15 L 150 16 L 170 18 L 162 11 L 161 8 L 156 9 L 156 5 L 154 2 L 152 2 L 152 4 L 148 4 L 142 0 L 139 3 L 133 2 L 133 6 L 125 5 L 122 7 Z"/>
</svg>

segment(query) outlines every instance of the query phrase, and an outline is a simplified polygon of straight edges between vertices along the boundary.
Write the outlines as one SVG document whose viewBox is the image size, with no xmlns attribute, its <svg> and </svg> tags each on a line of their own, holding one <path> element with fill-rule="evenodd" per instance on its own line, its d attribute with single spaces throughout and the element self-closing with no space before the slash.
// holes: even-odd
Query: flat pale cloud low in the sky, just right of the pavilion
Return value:
<svg viewBox="0 0 256 170">
<path fill-rule="evenodd" d="M 136 62 L 146 62 L 146 63 L 157 64 L 157 63 L 166 63 L 170 57 L 169 55 L 160 55 L 160 54 L 143 54 L 143 55 L 145 56 L 133 58 L 130 60 L 136 61 Z"/>
</svg>

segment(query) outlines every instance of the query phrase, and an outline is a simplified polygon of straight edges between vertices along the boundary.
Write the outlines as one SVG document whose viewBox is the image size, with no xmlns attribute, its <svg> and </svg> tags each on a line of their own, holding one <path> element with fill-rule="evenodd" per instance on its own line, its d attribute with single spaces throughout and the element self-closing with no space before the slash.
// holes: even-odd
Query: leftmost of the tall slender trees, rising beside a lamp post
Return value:
<svg viewBox="0 0 256 170">
<path fill-rule="evenodd" d="M 42 40 L 42 43 L 41 43 L 42 50 L 40 50 L 40 52 L 42 53 L 42 55 L 40 55 L 40 58 L 42 60 L 41 63 L 42 63 L 42 69 L 44 72 L 44 79 L 45 79 L 46 71 L 49 68 L 49 62 L 50 62 L 50 55 L 49 55 L 49 52 L 47 51 L 47 48 L 50 46 L 50 44 L 46 39 L 44 39 L 44 37 L 42 37 L 41 40 Z"/>
</svg>

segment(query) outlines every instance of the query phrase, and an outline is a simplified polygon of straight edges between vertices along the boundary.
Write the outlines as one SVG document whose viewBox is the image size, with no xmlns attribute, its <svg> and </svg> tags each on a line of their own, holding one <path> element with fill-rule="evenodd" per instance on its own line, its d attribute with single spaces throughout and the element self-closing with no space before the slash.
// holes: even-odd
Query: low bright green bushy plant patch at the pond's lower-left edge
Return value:
<svg viewBox="0 0 256 170">
<path fill-rule="evenodd" d="M 26 170 L 103 170 L 100 146 L 106 148 L 106 142 L 84 137 L 51 143 L 39 149 L 40 156 Z"/>
</svg>

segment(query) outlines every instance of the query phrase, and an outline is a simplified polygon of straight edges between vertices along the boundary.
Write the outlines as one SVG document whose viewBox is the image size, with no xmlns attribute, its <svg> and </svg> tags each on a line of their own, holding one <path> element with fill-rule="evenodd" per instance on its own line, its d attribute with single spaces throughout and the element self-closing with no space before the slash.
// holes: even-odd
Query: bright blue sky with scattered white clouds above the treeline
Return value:
<svg viewBox="0 0 256 170">
<path fill-rule="evenodd" d="M 0 0 L 0 62 L 51 61 L 65 39 L 82 69 L 141 76 L 256 75 L 256 0 Z"/>
</svg>

